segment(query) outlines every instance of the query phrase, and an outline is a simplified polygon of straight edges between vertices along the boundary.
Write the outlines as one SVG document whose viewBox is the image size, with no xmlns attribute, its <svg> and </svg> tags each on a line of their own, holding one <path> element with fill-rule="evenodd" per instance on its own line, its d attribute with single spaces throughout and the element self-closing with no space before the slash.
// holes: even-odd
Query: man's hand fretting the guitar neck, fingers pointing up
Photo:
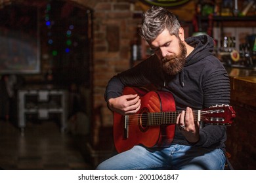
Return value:
<svg viewBox="0 0 256 183">
<path fill-rule="evenodd" d="M 179 125 L 181 133 L 184 135 L 188 142 L 198 142 L 200 139 L 199 122 L 194 122 L 192 108 L 187 107 L 186 112 L 182 110 L 181 114 L 177 117 L 176 124 Z"/>
</svg>

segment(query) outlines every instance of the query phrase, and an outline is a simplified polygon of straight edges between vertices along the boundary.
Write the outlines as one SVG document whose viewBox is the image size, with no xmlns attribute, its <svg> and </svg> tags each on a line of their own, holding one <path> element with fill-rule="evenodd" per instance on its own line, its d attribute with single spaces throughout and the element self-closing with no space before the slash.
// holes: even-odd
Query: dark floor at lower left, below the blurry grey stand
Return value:
<svg viewBox="0 0 256 183">
<path fill-rule="evenodd" d="M 0 121 L 0 169 L 92 169 L 81 150 L 84 140 L 60 133 L 54 122 L 28 123 L 22 134 L 11 122 Z"/>
</svg>

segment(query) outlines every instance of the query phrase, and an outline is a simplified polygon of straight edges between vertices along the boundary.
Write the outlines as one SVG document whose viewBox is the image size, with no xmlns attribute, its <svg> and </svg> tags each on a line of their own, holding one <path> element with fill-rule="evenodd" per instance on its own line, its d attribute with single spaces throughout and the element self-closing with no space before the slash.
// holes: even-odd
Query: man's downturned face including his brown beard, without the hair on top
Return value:
<svg viewBox="0 0 256 183">
<path fill-rule="evenodd" d="M 170 35 L 165 29 L 150 46 L 167 75 L 177 75 L 182 70 L 186 60 L 186 46 L 181 42 L 180 37 Z"/>
</svg>

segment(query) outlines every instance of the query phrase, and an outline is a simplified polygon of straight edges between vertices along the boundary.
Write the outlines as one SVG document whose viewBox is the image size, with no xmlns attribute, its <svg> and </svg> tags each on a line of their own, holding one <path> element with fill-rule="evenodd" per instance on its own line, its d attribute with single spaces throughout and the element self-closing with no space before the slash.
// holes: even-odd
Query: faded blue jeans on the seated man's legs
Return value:
<svg viewBox="0 0 256 183">
<path fill-rule="evenodd" d="M 223 150 L 200 148 L 173 144 L 169 148 L 144 148 L 134 146 L 106 159 L 96 167 L 101 170 L 221 170 L 224 169 L 226 156 Z"/>
</svg>

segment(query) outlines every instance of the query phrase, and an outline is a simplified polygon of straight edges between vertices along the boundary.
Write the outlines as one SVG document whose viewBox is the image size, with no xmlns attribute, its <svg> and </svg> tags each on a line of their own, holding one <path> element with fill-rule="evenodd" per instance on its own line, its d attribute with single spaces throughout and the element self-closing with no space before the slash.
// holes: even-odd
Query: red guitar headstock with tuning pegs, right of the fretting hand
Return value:
<svg viewBox="0 0 256 183">
<path fill-rule="evenodd" d="M 230 105 L 215 105 L 201 110 L 200 121 L 216 125 L 231 125 L 236 112 Z"/>
</svg>

